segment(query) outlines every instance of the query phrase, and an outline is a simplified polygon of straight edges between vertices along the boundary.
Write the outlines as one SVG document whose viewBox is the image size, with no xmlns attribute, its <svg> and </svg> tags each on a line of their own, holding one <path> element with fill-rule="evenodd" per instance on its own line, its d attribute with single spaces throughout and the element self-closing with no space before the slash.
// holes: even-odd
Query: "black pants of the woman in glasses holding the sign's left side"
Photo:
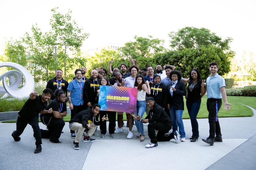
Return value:
<svg viewBox="0 0 256 170">
<path fill-rule="evenodd" d="M 101 121 L 102 117 L 105 115 L 105 117 L 108 117 L 109 125 L 108 125 L 108 132 L 109 134 L 113 134 L 116 127 L 116 112 L 112 111 L 100 111 L 100 118 Z M 108 115 L 108 116 L 107 116 Z M 107 121 L 104 121 L 103 124 L 100 125 L 101 134 L 107 133 Z"/>
</svg>

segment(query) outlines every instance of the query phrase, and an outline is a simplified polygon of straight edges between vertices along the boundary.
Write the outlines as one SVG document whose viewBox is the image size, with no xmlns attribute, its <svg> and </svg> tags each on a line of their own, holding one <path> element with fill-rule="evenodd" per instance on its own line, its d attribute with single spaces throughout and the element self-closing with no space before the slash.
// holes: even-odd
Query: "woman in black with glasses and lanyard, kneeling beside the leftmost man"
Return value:
<svg viewBox="0 0 256 170">
<path fill-rule="evenodd" d="M 56 98 L 46 108 L 46 110 L 52 108 L 53 112 L 40 115 L 41 122 L 48 128 L 48 130 L 41 130 L 41 137 L 50 138 L 53 143 L 62 143 L 59 137 L 65 125 L 63 117 L 67 115 L 67 97 L 62 89 L 55 90 L 53 95 Z"/>
</svg>

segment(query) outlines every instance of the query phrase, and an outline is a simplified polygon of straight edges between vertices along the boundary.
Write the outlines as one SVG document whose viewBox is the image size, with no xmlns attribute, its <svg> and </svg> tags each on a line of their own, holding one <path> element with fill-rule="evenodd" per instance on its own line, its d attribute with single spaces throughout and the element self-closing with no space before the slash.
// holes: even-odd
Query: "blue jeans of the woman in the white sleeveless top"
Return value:
<svg viewBox="0 0 256 170">
<path fill-rule="evenodd" d="M 134 113 L 136 116 L 138 116 L 138 114 L 140 115 L 140 117 L 143 116 L 144 112 L 146 110 L 146 102 L 143 101 L 137 101 L 137 107 L 136 107 L 136 113 Z M 136 127 L 138 129 L 138 132 L 141 135 L 144 135 L 144 128 L 143 128 L 143 123 L 137 121 L 137 119 L 134 119 Z"/>
</svg>

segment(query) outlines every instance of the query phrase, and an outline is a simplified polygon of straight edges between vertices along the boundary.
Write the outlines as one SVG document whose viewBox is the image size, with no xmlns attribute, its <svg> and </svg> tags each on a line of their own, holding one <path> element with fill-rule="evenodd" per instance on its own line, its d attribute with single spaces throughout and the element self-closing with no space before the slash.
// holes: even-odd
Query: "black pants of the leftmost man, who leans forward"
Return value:
<svg viewBox="0 0 256 170">
<path fill-rule="evenodd" d="M 41 132 L 40 128 L 38 125 L 38 115 L 29 117 L 29 118 L 22 118 L 20 115 L 17 118 L 17 123 L 16 123 L 16 131 L 13 132 L 14 137 L 20 136 L 27 124 L 30 124 L 33 128 L 34 131 L 34 138 L 36 139 L 36 145 L 42 144 L 42 139 L 41 139 Z"/>
</svg>

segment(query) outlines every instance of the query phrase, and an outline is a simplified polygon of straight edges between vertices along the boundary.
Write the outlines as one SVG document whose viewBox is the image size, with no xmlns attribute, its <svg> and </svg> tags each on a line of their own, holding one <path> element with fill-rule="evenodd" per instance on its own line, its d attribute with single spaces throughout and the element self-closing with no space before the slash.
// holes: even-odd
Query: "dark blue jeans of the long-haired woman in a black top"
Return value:
<svg viewBox="0 0 256 170">
<path fill-rule="evenodd" d="M 192 126 L 192 137 L 199 137 L 197 114 L 200 109 L 201 100 L 187 100 L 186 105 Z"/>
</svg>

